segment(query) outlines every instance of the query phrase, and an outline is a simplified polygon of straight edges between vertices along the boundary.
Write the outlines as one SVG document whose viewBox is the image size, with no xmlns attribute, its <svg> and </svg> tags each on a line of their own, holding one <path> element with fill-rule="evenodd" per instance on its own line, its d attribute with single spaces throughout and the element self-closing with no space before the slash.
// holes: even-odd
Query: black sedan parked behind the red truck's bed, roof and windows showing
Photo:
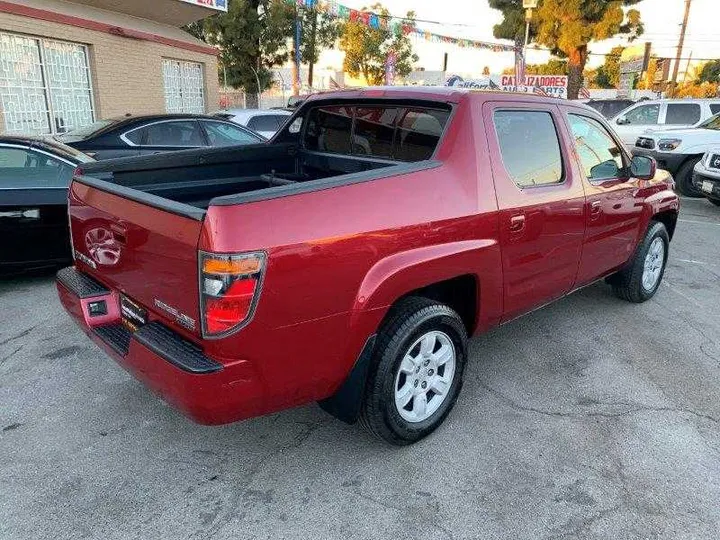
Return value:
<svg viewBox="0 0 720 540">
<path fill-rule="evenodd" d="M 124 116 L 100 120 L 58 135 L 56 139 L 95 159 L 265 141 L 261 135 L 233 122 L 192 114 Z"/>
</svg>

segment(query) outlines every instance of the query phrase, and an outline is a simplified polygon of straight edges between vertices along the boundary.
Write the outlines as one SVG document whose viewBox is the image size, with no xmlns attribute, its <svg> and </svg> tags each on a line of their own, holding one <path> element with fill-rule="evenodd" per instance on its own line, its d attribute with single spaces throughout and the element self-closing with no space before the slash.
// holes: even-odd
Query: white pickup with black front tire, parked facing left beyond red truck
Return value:
<svg viewBox="0 0 720 540">
<path fill-rule="evenodd" d="M 693 171 L 703 155 L 720 145 L 720 114 L 690 129 L 668 129 L 646 133 L 632 149 L 635 155 L 651 156 L 658 166 L 675 176 L 677 188 L 688 197 L 702 197 L 693 185 Z"/>
</svg>

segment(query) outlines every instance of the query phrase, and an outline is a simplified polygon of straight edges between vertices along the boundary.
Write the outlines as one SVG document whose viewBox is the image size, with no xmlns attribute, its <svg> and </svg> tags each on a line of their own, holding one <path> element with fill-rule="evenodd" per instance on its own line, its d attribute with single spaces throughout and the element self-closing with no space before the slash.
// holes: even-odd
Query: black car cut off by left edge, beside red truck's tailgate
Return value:
<svg viewBox="0 0 720 540">
<path fill-rule="evenodd" d="M 68 185 L 90 161 L 52 140 L 0 135 L 0 273 L 72 260 Z"/>
</svg>

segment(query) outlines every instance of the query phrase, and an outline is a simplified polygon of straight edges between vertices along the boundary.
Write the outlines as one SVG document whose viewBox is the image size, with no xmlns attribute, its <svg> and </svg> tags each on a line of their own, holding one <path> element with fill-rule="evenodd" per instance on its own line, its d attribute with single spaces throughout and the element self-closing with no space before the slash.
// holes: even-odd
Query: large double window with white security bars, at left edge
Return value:
<svg viewBox="0 0 720 540">
<path fill-rule="evenodd" d="M 0 32 L 3 132 L 65 133 L 94 121 L 85 45 Z"/>
</svg>

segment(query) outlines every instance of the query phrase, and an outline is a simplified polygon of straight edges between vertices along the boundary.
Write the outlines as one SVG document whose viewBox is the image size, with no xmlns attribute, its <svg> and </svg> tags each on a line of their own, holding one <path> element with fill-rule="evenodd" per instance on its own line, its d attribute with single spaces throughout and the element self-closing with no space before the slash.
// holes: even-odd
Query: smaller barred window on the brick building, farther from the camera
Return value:
<svg viewBox="0 0 720 540">
<path fill-rule="evenodd" d="M 163 60 L 165 110 L 169 113 L 205 112 L 205 80 L 202 64 Z"/>
</svg>

